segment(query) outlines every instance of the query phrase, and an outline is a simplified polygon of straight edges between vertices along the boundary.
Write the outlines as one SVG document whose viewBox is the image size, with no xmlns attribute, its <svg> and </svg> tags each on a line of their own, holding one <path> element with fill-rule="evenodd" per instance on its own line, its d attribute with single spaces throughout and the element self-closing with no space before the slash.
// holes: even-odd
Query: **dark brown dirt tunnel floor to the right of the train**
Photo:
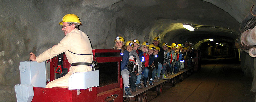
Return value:
<svg viewBox="0 0 256 102">
<path fill-rule="evenodd" d="M 156 91 L 148 91 L 149 102 L 255 102 L 251 92 L 252 77 L 244 76 L 240 62 L 222 57 L 203 59 L 201 70 L 184 77 L 182 82 L 171 87 L 163 85 L 164 91 L 156 96 Z"/>
</svg>

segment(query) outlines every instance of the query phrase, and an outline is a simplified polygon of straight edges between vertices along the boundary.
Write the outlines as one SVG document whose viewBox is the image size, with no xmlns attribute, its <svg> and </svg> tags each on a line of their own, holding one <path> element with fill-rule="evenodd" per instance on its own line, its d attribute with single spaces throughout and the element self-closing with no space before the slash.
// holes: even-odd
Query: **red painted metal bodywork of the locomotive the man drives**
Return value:
<svg viewBox="0 0 256 102">
<path fill-rule="evenodd" d="M 115 102 L 123 101 L 123 79 L 120 74 L 120 50 L 109 49 L 92 49 L 93 55 L 96 57 L 97 62 L 117 62 L 118 63 L 118 81 L 114 84 L 108 84 L 105 86 L 92 87 L 81 90 L 68 90 L 68 88 L 41 88 L 33 87 L 34 97 L 32 102 L 108 102 L 109 100 L 115 100 Z M 94 59 L 95 59 L 94 57 Z M 49 60 L 50 62 L 50 80 L 55 79 L 55 68 L 58 67 L 58 59 L 56 57 Z M 68 68 L 70 63 L 63 55 L 63 68 Z M 99 66 L 99 70 L 100 66 Z M 111 74 L 111 73 L 109 73 Z M 81 93 L 78 95 L 78 91 Z"/>
</svg>

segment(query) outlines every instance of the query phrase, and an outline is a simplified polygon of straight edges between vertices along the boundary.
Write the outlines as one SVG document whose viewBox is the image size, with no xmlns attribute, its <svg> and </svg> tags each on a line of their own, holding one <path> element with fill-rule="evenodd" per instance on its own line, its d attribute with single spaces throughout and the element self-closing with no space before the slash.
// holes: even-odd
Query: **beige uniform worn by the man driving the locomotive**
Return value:
<svg viewBox="0 0 256 102">
<path fill-rule="evenodd" d="M 78 30 L 77 28 L 68 33 L 58 45 L 53 46 L 52 48 L 44 51 L 42 54 L 36 57 L 37 62 L 44 62 L 48 59 L 51 59 L 63 52 L 65 52 L 66 57 L 68 58 L 69 63 L 76 62 L 88 62 L 93 61 L 92 55 L 76 55 L 76 54 L 92 54 L 92 47 L 88 36 Z M 75 72 L 86 72 L 92 71 L 91 66 L 71 66 L 69 68 L 68 74 L 63 77 L 60 77 L 46 85 L 46 88 L 52 88 L 56 86 L 68 86 L 68 79 L 71 74 Z"/>
</svg>

